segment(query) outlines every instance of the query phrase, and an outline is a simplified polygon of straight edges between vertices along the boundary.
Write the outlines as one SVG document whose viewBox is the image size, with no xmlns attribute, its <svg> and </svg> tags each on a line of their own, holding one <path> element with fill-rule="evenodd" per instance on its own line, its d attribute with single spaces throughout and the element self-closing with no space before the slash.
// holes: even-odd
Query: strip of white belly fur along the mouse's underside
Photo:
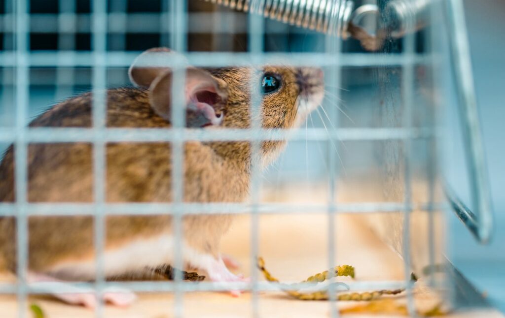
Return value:
<svg viewBox="0 0 505 318">
<path fill-rule="evenodd" d="M 117 248 L 107 249 L 104 253 L 104 274 L 114 277 L 143 271 L 162 265 L 173 264 L 174 237 L 164 234 L 156 238 L 138 238 Z M 181 245 L 184 264 L 207 269 L 216 261 L 211 255 L 196 251 L 183 243 Z M 54 266 L 47 274 L 66 280 L 93 280 L 96 262 L 94 259 L 62 262 Z"/>
</svg>

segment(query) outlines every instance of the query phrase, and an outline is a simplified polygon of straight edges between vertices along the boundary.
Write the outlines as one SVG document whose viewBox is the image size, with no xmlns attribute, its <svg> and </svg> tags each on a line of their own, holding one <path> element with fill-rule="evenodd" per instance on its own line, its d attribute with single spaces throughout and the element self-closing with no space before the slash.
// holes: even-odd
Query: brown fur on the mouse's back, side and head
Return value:
<svg viewBox="0 0 505 318">
<path fill-rule="evenodd" d="M 291 128 L 297 113 L 299 86 L 289 68 L 266 68 L 283 78 L 284 86 L 263 99 L 264 128 Z M 250 127 L 251 81 L 257 78 L 247 68 L 209 70 L 228 84 L 224 128 Z M 92 126 L 92 94 L 66 100 L 30 123 L 31 127 Z M 107 127 L 169 128 L 149 104 L 148 92 L 139 88 L 107 92 Z M 283 142 L 263 142 L 264 157 L 272 156 Z M 92 144 L 30 144 L 28 147 L 29 202 L 93 202 Z M 0 163 L 0 202 L 15 202 L 14 152 L 11 146 Z M 172 162 L 169 143 L 109 143 L 106 145 L 106 201 L 171 202 Z M 241 202 L 249 186 L 248 142 L 186 142 L 184 145 L 184 202 Z M 94 257 L 91 216 L 32 216 L 29 218 L 29 269 L 44 272 L 61 261 Z M 218 255 L 229 215 L 184 217 L 183 235 L 194 249 Z M 108 216 L 106 249 L 134 238 L 171 233 L 169 215 Z M 15 220 L 0 218 L 0 251 L 5 266 L 15 271 Z"/>
</svg>

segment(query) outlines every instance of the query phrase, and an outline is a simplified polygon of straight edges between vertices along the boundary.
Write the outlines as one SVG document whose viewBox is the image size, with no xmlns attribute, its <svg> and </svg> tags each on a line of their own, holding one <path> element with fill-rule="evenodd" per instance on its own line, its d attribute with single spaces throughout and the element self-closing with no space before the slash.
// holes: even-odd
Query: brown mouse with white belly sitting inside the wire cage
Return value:
<svg viewBox="0 0 505 318">
<path fill-rule="evenodd" d="M 106 92 L 106 127 L 170 130 L 171 86 L 177 79 L 168 67 L 149 67 L 150 60 L 170 60 L 168 48 L 140 54 L 129 69 L 132 86 Z M 177 55 L 180 56 L 180 55 Z M 147 62 L 147 63 L 146 63 Z M 306 120 L 324 96 L 319 68 L 263 67 L 196 68 L 186 66 L 183 98 L 186 128 L 223 130 L 251 128 L 253 94 L 261 100 L 264 129 L 292 129 Z M 181 96 L 182 97 L 182 96 Z M 29 127 L 91 128 L 93 94 L 60 102 L 37 116 Z M 261 142 L 261 165 L 279 156 L 285 140 Z M 0 202 L 14 203 L 15 147 L 0 163 Z M 110 142 L 105 145 L 107 203 L 172 202 L 172 152 L 168 142 Z M 248 141 L 186 141 L 183 145 L 184 203 L 240 203 L 247 199 L 251 174 Z M 29 203 L 93 203 L 93 144 L 31 143 L 27 153 Z M 182 244 L 185 267 L 204 272 L 213 282 L 243 282 L 221 255 L 220 240 L 233 220 L 230 214 L 195 214 L 182 218 L 182 242 L 175 241 L 170 214 L 107 215 L 104 268 L 107 279 L 173 264 L 175 244 Z M 28 282 L 93 281 L 95 249 L 92 215 L 75 211 L 28 218 Z M 0 265 L 16 273 L 16 221 L 0 217 Z M 227 266 L 228 265 L 228 266 Z M 233 292 L 238 295 L 239 291 Z M 54 295 L 60 300 L 94 307 L 95 294 Z M 102 293 L 105 302 L 126 306 L 129 291 Z"/>
</svg>

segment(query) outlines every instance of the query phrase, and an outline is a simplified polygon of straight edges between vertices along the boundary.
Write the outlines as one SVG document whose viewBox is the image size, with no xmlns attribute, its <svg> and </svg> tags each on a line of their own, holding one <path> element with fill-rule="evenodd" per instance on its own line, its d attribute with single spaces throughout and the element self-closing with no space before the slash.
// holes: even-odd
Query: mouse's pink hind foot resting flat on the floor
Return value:
<svg viewBox="0 0 505 318">
<path fill-rule="evenodd" d="M 29 283 L 35 282 L 52 282 L 61 284 L 65 289 L 70 290 L 68 293 L 53 293 L 52 295 L 66 303 L 83 305 L 88 308 L 94 308 L 97 303 L 96 295 L 92 290 L 73 286 L 72 284 L 56 279 L 44 274 L 37 274 L 29 272 L 27 276 Z M 105 302 L 111 303 L 116 306 L 128 306 L 135 301 L 136 296 L 134 293 L 127 290 L 105 290 L 102 294 Z"/>
</svg>

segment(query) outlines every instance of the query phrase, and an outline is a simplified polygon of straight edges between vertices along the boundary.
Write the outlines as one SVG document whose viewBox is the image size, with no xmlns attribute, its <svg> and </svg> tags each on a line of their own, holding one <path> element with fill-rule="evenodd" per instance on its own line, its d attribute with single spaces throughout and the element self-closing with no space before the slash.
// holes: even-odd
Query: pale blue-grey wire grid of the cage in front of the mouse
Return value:
<svg viewBox="0 0 505 318">
<path fill-rule="evenodd" d="M 15 1 L 15 3 L 14 3 Z M 9 3 L 9 2 L 7 2 Z M 76 16 L 73 15 L 75 10 L 75 0 L 61 0 L 62 13 L 59 15 L 59 30 L 68 28 L 69 22 L 73 27 L 76 26 Z M 340 83 L 340 69 L 342 66 L 401 66 L 403 70 L 403 80 L 401 84 L 402 96 L 404 98 L 403 104 L 406 106 L 406 111 L 403 113 L 403 127 L 402 128 L 379 128 L 379 129 L 343 129 L 336 128 L 328 134 L 322 129 L 309 129 L 308 131 L 292 130 L 292 131 L 278 131 L 278 130 L 264 130 L 258 119 L 259 116 L 259 98 L 253 101 L 251 116 L 253 127 L 250 130 L 243 131 L 212 131 L 201 132 L 191 131 L 184 129 L 184 112 L 182 98 L 175 92 L 182 89 L 181 83 L 184 83 L 185 72 L 183 63 L 179 60 L 168 61 L 169 66 L 174 69 L 175 78 L 180 81 L 174 83 L 172 90 L 174 94 L 172 108 L 173 128 L 170 131 L 163 130 L 163 134 L 159 134 L 157 130 L 140 130 L 140 129 L 107 129 L 105 128 L 105 94 L 106 88 L 106 68 L 111 66 L 129 66 L 137 53 L 127 52 L 108 52 L 106 47 L 108 23 L 111 18 L 121 15 L 124 11 L 124 6 L 121 1 L 116 1 L 117 4 L 114 13 L 107 13 L 106 2 L 102 0 L 94 0 L 92 2 L 92 12 L 90 18 L 92 20 L 92 51 L 91 52 L 75 52 L 75 51 L 50 51 L 50 52 L 31 52 L 29 50 L 29 1 L 28 0 L 13 0 L 11 5 L 6 4 L 7 9 L 12 9 L 11 16 L 14 17 L 15 22 L 15 51 L 4 51 L 0 53 L 0 65 L 2 67 L 15 67 L 16 69 L 16 122 L 15 128 L 3 128 L 0 130 L 0 142 L 14 143 L 16 147 L 15 157 L 15 177 L 16 177 L 16 203 L 15 204 L 0 204 L 1 215 L 11 215 L 17 218 L 17 242 L 18 242 L 18 283 L 3 284 L 0 286 L 0 292 L 12 293 L 16 292 L 19 303 L 19 316 L 24 315 L 23 308 L 27 304 L 28 293 L 47 293 L 49 291 L 58 292 L 75 292 L 73 287 L 62 286 L 56 283 L 31 283 L 26 281 L 27 269 L 27 217 L 30 215 L 62 215 L 65 211 L 80 211 L 82 214 L 91 214 L 95 217 L 95 248 L 96 248 L 96 265 L 97 265 L 97 279 L 95 283 L 75 283 L 73 286 L 92 289 L 95 293 L 100 295 L 106 286 L 113 287 L 126 287 L 133 291 L 170 291 L 175 292 L 175 313 L 177 316 L 182 316 L 182 301 L 183 293 L 190 291 L 203 291 L 203 290 L 229 290 L 230 288 L 250 288 L 252 292 L 251 310 L 254 316 L 259 316 L 259 298 L 258 291 L 260 290 L 273 290 L 276 286 L 272 284 L 265 284 L 258 282 L 258 274 L 252 271 L 252 283 L 183 283 L 181 277 L 176 276 L 174 282 L 114 282 L 106 283 L 104 281 L 103 273 L 103 250 L 104 250 L 104 218 L 106 215 L 112 214 L 153 214 L 153 213 L 171 213 L 174 215 L 174 233 L 177 241 L 181 241 L 182 226 L 181 220 L 183 214 L 191 213 L 249 213 L 251 215 L 251 260 L 254 260 L 258 252 L 258 217 L 261 213 L 290 213 L 292 211 L 306 210 L 309 211 L 325 211 L 329 217 L 328 227 L 328 264 L 334 265 L 335 259 L 335 242 L 334 242 L 334 215 L 335 213 L 368 213 L 368 212 L 397 212 L 403 211 L 405 213 L 405 226 L 403 233 L 403 240 L 405 249 L 403 255 L 406 264 L 406 280 L 408 282 L 410 277 L 409 272 L 409 255 L 410 244 L 409 241 L 409 216 L 410 212 L 414 209 L 429 210 L 437 209 L 433 202 L 427 204 L 414 204 L 411 198 L 411 165 L 409 164 L 411 156 L 412 141 L 417 139 L 432 139 L 435 138 L 432 128 L 413 128 L 412 124 L 412 103 L 414 92 L 414 65 L 422 65 L 425 63 L 432 63 L 437 59 L 436 55 L 419 54 L 414 50 L 413 36 L 406 37 L 404 41 L 405 50 L 401 54 L 389 55 L 369 55 L 369 54 L 356 54 L 356 53 L 342 53 L 340 48 L 340 41 L 333 37 L 326 38 L 326 52 L 324 53 L 265 53 L 263 48 L 263 33 L 264 33 L 264 20 L 263 18 L 250 15 L 248 22 L 249 32 L 249 52 L 247 53 L 195 53 L 185 52 L 186 48 L 186 28 L 187 14 L 186 14 L 186 1 L 177 0 L 175 2 L 164 2 L 165 17 L 170 17 L 168 21 L 171 23 L 163 23 L 162 33 L 169 35 L 171 47 L 176 51 L 185 53 L 189 62 L 195 66 L 237 66 L 247 65 L 255 66 L 264 63 L 275 63 L 282 60 L 284 64 L 290 65 L 312 65 L 331 68 L 332 72 L 327 77 L 327 80 L 332 86 L 338 86 Z M 338 5 L 339 2 L 334 2 Z M 11 6 L 11 7 L 9 7 Z M 254 6 L 254 2 L 252 3 Z M 117 19 L 117 18 L 114 18 Z M 124 19 L 121 20 L 122 26 L 125 25 Z M 167 21 L 165 19 L 164 21 Z M 116 23 L 116 20 L 114 20 Z M 75 29 L 66 29 L 67 32 L 75 31 Z M 67 48 L 72 50 L 72 46 L 65 46 L 67 41 L 61 41 L 60 48 Z M 118 46 L 124 46 L 124 38 L 119 41 Z M 205 58 L 204 58 L 205 57 Z M 331 57 L 331 58 L 330 58 Z M 29 68 L 34 66 L 51 66 L 51 67 L 75 67 L 75 66 L 88 66 L 93 70 L 93 128 L 92 129 L 51 129 L 51 128 L 37 128 L 28 129 L 26 126 L 27 109 L 28 109 L 28 93 L 29 93 Z M 65 73 L 58 73 L 57 86 L 66 82 L 72 76 Z M 338 90 L 333 91 L 334 94 L 339 94 Z M 332 114 L 337 116 L 337 113 Z M 256 150 L 254 153 L 258 154 L 260 142 L 262 140 L 280 140 L 288 138 L 290 140 L 320 140 L 327 143 L 343 140 L 398 140 L 402 141 L 407 149 L 407 156 L 405 156 L 405 197 L 403 202 L 363 202 L 363 203 L 349 203 L 349 204 L 336 204 L 335 202 L 335 189 L 336 178 L 338 175 L 337 159 L 334 153 L 330 155 L 329 167 L 330 171 L 330 198 L 327 205 L 307 205 L 306 207 L 300 205 L 290 205 L 289 203 L 283 204 L 260 204 L 259 188 L 260 188 L 260 169 L 258 160 L 254 160 L 251 177 L 251 194 L 248 203 L 243 204 L 185 204 L 182 202 L 183 198 L 183 177 L 182 177 L 182 163 L 183 152 L 182 146 L 184 141 L 187 140 L 247 140 L 252 142 L 252 149 Z M 58 142 L 92 142 L 94 146 L 93 163 L 94 163 L 94 200 L 93 204 L 41 204 L 27 202 L 27 145 L 32 142 L 37 143 L 58 143 Z M 173 202 L 170 204 L 108 204 L 105 200 L 104 192 L 104 179 L 105 179 L 105 145 L 108 142 L 154 142 L 165 141 L 172 144 L 172 165 L 173 169 Z M 430 198 L 429 200 L 433 200 Z M 68 214 L 66 214 L 68 215 Z M 182 266 L 182 249 L 179 244 L 175 249 L 175 264 L 177 268 Z M 349 285 L 351 288 L 398 288 L 405 287 L 405 282 L 354 282 Z M 407 284 L 409 295 L 409 310 L 414 314 L 414 305 L 410 284 Z M 336 310 L 333 290 L 332 301 L 330 301 L 331 315 L 338 316 Z M 96 308 L 96 315 L 103 315 L 103 303 L 99 303 Z"/>
</svg>

